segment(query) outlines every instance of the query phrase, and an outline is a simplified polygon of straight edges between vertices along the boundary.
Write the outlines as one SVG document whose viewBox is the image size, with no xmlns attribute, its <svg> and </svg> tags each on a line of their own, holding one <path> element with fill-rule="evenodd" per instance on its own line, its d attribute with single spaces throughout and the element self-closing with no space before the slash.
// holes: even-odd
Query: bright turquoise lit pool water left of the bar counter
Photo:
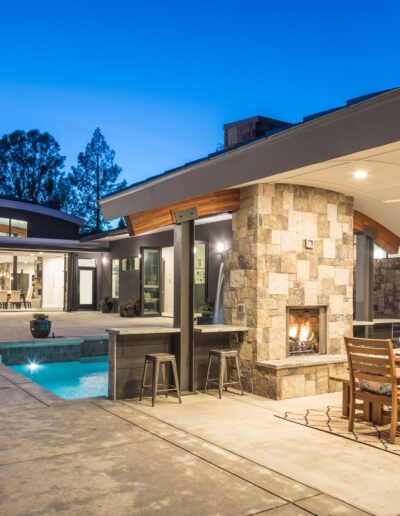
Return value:
<svg viewBox="0 0 400 516">
<path fill-rule="evenodd" d="M 108 395 L 108 357 L 9 366 L 66 400 Z"/>
</svg>

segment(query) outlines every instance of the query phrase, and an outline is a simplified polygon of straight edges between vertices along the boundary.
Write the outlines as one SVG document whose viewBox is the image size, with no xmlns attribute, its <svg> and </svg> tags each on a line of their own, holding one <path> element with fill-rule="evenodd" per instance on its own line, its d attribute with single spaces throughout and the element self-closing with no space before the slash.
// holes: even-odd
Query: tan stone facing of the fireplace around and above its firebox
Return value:
<svg viewBox="0 0 400 516">
<path fill-rule="evenodd" d="M 287 305 L 327 305 L 327 352 L 344 353 L 352 334 L 353 202 L 341 194 L 289 184 L 242 188 L 225 253 L 227 324 L 250 328 L 241 345 L 246 389 L 257 361 L 286 357 Z M 314 248 L 305 248 L 305 239 Z M 238 312 L 244 303 L 245 314 Z"/>
</svg>

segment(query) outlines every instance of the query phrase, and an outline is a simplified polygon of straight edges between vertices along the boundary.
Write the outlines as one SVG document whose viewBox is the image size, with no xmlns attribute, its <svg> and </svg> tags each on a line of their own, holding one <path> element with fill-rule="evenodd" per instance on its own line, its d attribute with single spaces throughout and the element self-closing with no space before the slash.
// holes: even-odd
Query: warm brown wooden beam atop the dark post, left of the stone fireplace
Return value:
<svg viewBox="0 0 400 516">
<path fill-rule="evenodd" d="M 125 217 L 130 235 L 140 235 L 174 223 L 174 213 L 196 207 L 199 217 L 216 215 L 240 208 L 240 189 L 220 190 L 207 195 L 185 199 L 160 208 L 132 213 Z"/>
</svg>

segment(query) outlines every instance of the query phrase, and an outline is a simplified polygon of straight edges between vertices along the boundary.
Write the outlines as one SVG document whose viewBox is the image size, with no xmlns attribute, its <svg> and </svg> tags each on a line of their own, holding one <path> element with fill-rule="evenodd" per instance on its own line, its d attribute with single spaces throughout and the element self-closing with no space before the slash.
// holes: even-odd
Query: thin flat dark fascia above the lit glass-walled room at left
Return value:
<svg viewBox="0 0 400 516">
<path fill-rule="evenodd" d="M 0 251 L 15 249 L 40 249 L 47 251 L 92 251 L 108 252 L 109 246 L 106 243 L 101 245 L 96 243 L 84 244 L 80 240 L 54 240 L 50 238 L 13 238 L 0 237 Z"/>
</svg>

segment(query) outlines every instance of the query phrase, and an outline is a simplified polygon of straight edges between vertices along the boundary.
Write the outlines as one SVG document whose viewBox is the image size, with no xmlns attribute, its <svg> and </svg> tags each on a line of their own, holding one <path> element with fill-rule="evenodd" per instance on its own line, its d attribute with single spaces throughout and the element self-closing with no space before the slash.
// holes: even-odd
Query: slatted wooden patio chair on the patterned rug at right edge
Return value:
<svg viewBox="0 0 400 516">
<path fill-rule="evenodd" d="M 345 344 L 350 370 L 349 431 L 354 428 L 357 400 L 378 405 L 380 410 L 390 406 L 389 441 L 394 443 L 399 393 L 392 341 L 345 337 Z"/>
</svg>

